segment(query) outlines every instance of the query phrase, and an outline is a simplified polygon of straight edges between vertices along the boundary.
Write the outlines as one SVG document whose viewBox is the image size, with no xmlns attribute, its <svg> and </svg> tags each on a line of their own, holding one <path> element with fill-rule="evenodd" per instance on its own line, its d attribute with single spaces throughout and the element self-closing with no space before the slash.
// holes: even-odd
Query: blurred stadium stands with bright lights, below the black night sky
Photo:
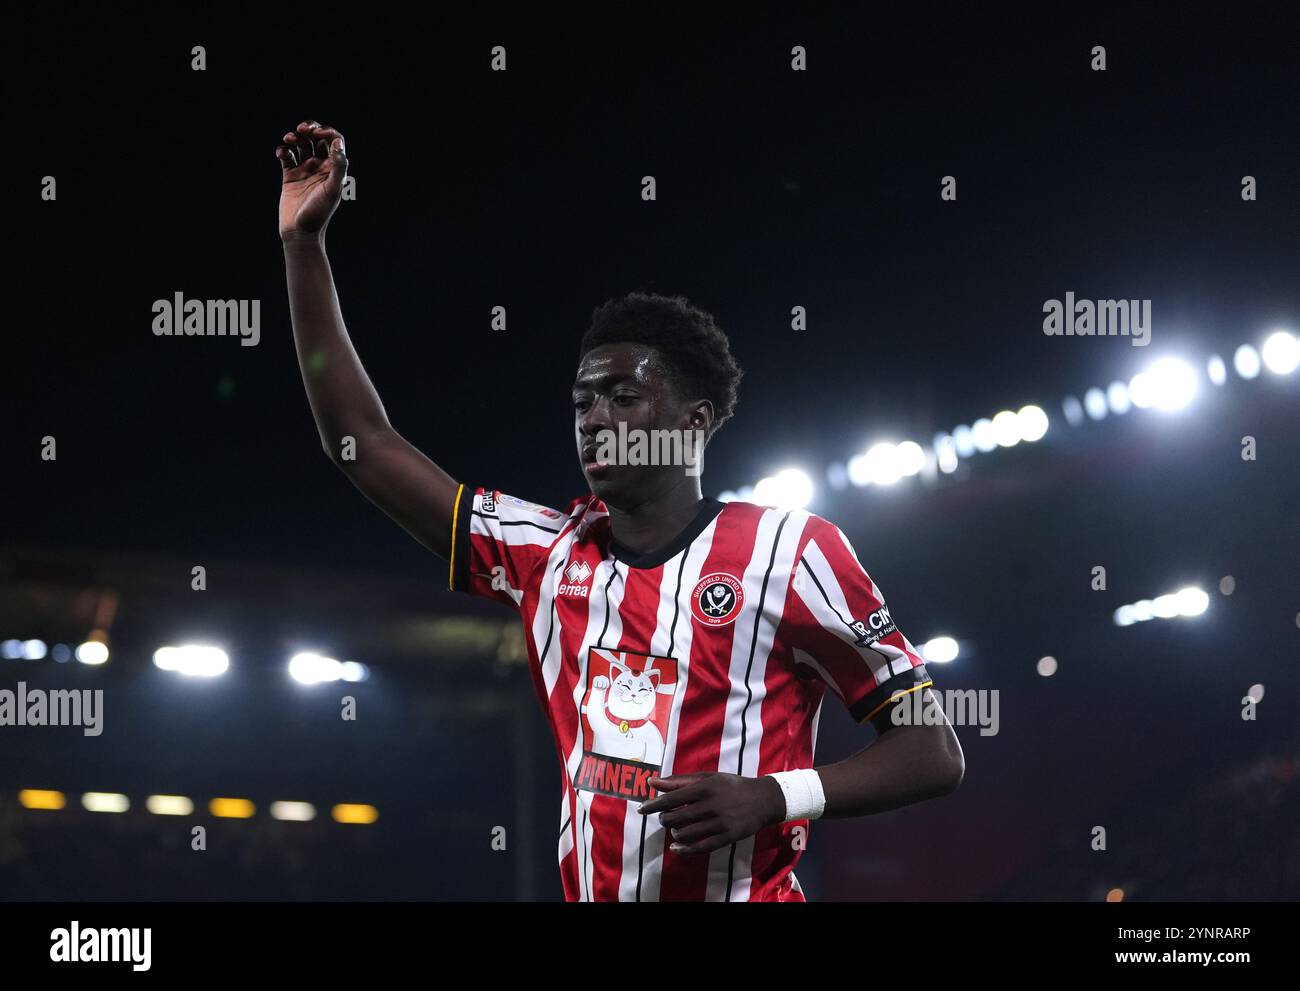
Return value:
<svg viewBox="0 0 1300 991">
<path fill-rule="evenodd" d="M 937 685 L 1000 693 L 997 733 L 959 728 L 954 797 L 814 827 L 812 896 L 1300 895 L 1296 460 L 1236 450 L 1247 429 L 1294 437 L 1300 341 L 1161 362 L 1154 382 L 724 493 L 866 515 L 849 536 L 889 562 Z M 1140 512 L 1098 525 L 1106 506 Z M 1167 516 L 1178 533 L 1144 524 Z M 233 590 L 190 590 L 176 558 L 0 554 L 0 684 L 105 692 L 101 736 L 3 731 L 5 897 L 558 895 L 554 749 L 508 614 L 434 579 L 207 567 Z M 185 645 L 209 650 L 160 650 Z M 823 711 L 820 762 L 864 743 Z M 195 823 L 208 849 L 185 856 Z"/>
</svg>

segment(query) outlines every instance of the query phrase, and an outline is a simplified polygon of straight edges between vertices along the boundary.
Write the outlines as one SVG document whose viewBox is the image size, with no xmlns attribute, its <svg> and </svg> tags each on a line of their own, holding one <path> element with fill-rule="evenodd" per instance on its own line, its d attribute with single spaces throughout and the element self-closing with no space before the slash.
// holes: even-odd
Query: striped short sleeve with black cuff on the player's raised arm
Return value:
<svg viewBox="0 0 1300 991">
<path fill-rule="evenodd" d="M 559 510 L 462 485 L 451 514 L 447 587 L 517 607 L 567 522 Z"/>
</svg>

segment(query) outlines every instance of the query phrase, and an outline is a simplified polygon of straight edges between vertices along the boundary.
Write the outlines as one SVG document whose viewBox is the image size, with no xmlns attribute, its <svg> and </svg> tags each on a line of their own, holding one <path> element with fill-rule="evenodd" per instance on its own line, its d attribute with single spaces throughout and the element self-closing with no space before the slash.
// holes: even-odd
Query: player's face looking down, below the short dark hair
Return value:
<svg viewBox="0 0 1300 991">
<path fill-rule="evenodd" d="M 638 430 L 686 430 L 693 425 L 692 404 L 676 397 L 662 359 L 645 345 L 602 345 L 586 352 L 573 381 L 573 432 L 578 462 L 592 492 L 610 506 L 630 509 L 684 475 L 680 464 L 646 464 L 663 458 L 642 456 L 632 443 Z M 628 445 L 619 445 L 620 424 Z M 614 443 L 602 441 L 612 432 Z M 644 434 L 644 451 L 651 437 Z"/>
</svg>

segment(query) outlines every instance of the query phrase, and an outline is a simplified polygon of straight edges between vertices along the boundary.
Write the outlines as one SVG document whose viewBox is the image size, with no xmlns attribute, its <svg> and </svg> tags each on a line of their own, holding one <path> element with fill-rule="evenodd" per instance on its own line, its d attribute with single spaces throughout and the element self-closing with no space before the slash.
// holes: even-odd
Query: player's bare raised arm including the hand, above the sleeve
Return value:
<svg viewBox="0 0 1300 991">
<path fill-rule="evenodd" d="M 459 485 L 389 423 L 352 350 L 325 255 L 325 229 L 347 174 L 343 135 L 303 121 L 285 135 L 276 157 L 282 172 L 280 238 L 294 346 L 321 446 L 376 506 L 446 558 Z"/>
</svg>

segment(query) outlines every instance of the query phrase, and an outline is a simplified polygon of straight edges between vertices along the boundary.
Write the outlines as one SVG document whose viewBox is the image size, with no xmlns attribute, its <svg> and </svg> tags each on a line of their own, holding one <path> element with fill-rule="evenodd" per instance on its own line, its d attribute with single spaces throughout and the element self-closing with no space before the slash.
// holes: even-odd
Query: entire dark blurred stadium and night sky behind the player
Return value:
<svg viewBox="0 0 1300 991">
<path fill-rule="evenodd" d="M 8 238 L 0 689 L 105 693 L 99 737 L 0 727 L 0 899 L 560 896 L 512 615 L 446 592 L 320 453 L 272 226 L 304 116 L 348 140 L 358 351 L 454 477 L 582 492 L 592 307 L 685 294 L 746 369 L 706 493 L 840 524 L 937 687 L 1000 693 L 954 796 L 814 825 L 811 899 L 1300 897 L 1287 12 L 692 10 L 616 42 L 523 5 L 240 16 L 65 4 L 0 40 L 31 95 L 13 168 L 60 183 Z M 1152 299 L 1150 346 L 1045 337 L 1070 290 Z M 261 300 L 261 343 L 155 337 L 177 291 Z M 157 654 L 183 645 L 224 665 Z M 828 700 L 819 762 L 868 741 Z"/>
</svg>

